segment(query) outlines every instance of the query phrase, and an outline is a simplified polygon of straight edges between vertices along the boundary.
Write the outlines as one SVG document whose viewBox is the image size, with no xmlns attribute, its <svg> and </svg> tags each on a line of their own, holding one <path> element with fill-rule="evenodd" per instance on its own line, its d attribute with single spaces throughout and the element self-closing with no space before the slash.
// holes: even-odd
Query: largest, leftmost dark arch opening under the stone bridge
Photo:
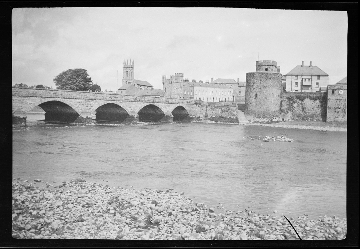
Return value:
<svg viewBox="0 0 360 249">
<path fill-rule="evenodd" d="M 38 106 L 45 111 L 45 122 L 48 123 L 72 123 L 80 115 L 68 104 L 57 101 L 45 101 Z"/>
</svg>

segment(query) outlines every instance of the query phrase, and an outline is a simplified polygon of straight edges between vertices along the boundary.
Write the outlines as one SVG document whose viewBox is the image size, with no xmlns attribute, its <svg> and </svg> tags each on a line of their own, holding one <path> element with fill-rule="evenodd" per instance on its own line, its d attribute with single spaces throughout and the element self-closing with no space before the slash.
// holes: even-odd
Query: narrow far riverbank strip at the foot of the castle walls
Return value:
<svg viewBox="0 0 360 249">
<path fill-rule="evenodd" d="M 252 123 L 243 125 L 260 125 L 290 129 L 323 130 L 332 132 L 347 132 L 347 122 L 320 122 L 320 121 L 288 121 L 279 123 Z"/>
</svg>

